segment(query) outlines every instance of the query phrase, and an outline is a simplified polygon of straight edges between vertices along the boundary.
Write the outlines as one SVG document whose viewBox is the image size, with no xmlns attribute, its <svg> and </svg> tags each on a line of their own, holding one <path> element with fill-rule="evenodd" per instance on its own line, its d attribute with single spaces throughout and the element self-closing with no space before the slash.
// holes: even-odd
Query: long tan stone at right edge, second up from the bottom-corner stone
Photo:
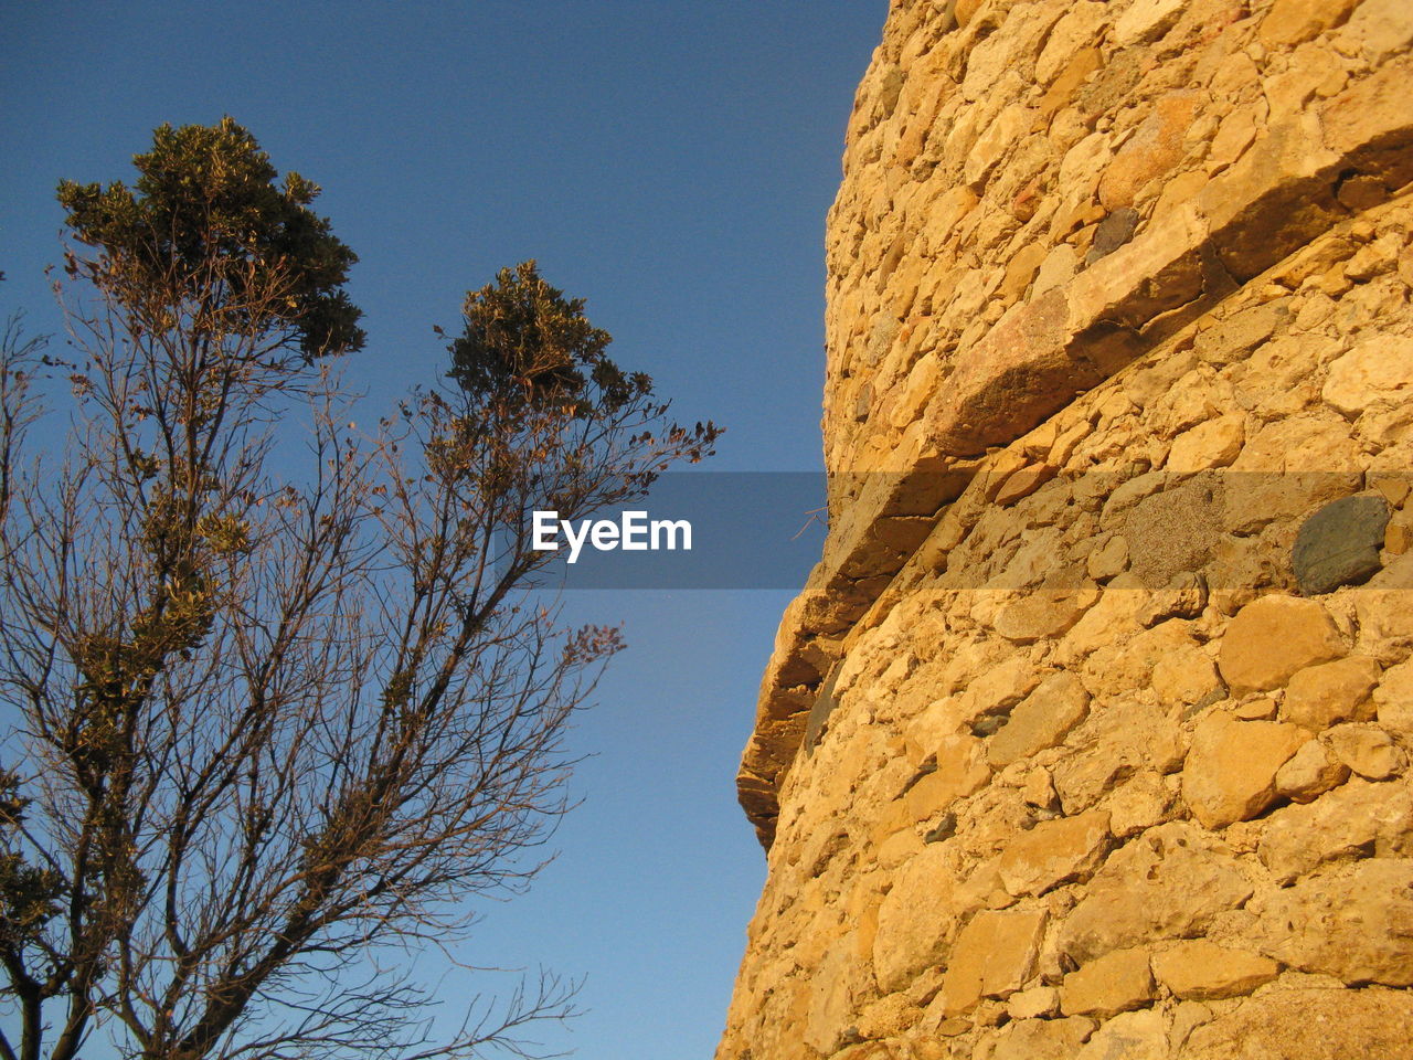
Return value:
<svg viewBox="0 0 1413 1060">
<path fill-rule="evenodd" d="M 1413 854 L 1413 789 L 1406 782 L 1351 780 L 1303 806 L 1276 810 L 1260 859 L 1280 883 L 1332 861 Z"/>
</svg>

